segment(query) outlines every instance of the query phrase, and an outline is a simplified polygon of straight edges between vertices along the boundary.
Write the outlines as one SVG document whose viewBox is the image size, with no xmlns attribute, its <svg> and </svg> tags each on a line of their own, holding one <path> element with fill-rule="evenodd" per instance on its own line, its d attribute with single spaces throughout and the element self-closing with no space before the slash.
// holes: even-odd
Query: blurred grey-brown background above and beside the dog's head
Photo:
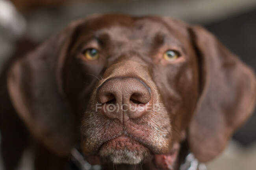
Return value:
<svg viewBox="0 0 256 170">
<path fill-rule="evenodd" d="M 33 49 L 93 13 L 163 15 L 200 24 L 256 70 L 256 0 L 0 0 L 0 71 L 14 53 Z M 256 169 L 256 113 L 207 167 Z"/>
</svg>

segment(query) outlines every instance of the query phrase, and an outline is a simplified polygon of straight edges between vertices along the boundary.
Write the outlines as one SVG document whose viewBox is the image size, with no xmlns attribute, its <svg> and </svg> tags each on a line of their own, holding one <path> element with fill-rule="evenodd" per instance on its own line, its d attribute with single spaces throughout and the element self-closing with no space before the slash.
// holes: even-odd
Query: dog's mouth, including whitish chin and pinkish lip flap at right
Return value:
<svg viewBox="0 0 256 170">
<path fill-rule="evenodd" d="M 102 144 L 99 155 L 90 157 L 87 161 L 93 165 L 102 163 L 136 165 L 153 161 L 157 168 L 168 169 L 175 166 L 179 148 L 179 144 L 174 144 L 168 154 L 153 154 L 142 143 L 122 135 Z"/>
</svg>

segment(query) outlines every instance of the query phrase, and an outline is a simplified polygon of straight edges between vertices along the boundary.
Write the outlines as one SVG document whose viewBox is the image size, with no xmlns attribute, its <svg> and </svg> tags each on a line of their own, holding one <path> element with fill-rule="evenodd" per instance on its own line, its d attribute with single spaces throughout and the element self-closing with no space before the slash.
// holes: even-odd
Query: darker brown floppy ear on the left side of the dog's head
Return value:
<svg viewBox="0 0 256 170">
<path fill-rule="evenodd" d="M 7 87 L 13 106 L 28 130 L 58 155 L 69 154 L 78 130 L 61 90 L 62 64 L 82 20 L 50 38 L 9 69 Z"/>
</svg>

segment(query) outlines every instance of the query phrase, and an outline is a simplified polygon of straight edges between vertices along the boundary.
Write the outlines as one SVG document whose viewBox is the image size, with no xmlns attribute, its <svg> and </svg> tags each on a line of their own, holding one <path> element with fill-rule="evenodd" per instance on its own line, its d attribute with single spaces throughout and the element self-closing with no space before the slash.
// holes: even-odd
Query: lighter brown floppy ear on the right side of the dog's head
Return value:
<svg viewBox="0 0 256 170">
<path fill-rule="evenodd" d="M 200 99 L 189 126 L 189 148 L 201 162 L 220 154 L 255 106 L 254 72 L 202 27 L 190 28 L 198 54 Z"/>
</svg>

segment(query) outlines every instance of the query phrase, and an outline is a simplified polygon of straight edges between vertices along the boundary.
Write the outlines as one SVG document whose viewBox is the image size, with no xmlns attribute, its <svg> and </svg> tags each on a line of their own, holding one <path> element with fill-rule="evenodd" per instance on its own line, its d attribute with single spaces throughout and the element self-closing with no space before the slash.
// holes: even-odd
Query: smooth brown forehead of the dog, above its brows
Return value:
<svg viewBox="0 0 256 170">
<path fill-rule="evenodd" d="M 170 20 L 170 22 L 172 22 Z M 151 40 L 156 35 L 178 39 L 179 30 L 158 16 L 103 15 L 85 24 L 96 36 L 107 34 L 112 40 Z"/>
</svg>

